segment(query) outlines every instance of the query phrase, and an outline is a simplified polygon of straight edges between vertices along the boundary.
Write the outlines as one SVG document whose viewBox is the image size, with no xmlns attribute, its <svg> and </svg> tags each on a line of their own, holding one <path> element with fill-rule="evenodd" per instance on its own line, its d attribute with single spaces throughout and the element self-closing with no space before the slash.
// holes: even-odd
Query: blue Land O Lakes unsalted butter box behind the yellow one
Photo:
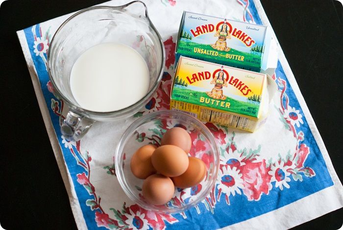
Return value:
<svg viewBox="0 0 343 230">
<path fill-rule="evenodd" d="M 277 45 L 268 26 L 184 12 L 176 44 L 182 55 L 255 72 L 277 65 Z"/>
</svg>

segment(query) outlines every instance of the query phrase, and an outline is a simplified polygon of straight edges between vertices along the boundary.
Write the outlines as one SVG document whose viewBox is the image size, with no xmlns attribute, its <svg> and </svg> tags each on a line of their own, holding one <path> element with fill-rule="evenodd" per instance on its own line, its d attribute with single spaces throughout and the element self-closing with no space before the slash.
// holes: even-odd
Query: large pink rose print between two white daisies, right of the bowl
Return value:
<svg viewBox="0 0 343 230">
<path fill-rule="evenodd" d="M 268 174 L 265 160 L 256 163 L 246 161 L 240 170 L 244 180 L 243 193 L 249 201 L 260 200 L 262 193 L 269 194 L 271 176 Z"/>
</svg>

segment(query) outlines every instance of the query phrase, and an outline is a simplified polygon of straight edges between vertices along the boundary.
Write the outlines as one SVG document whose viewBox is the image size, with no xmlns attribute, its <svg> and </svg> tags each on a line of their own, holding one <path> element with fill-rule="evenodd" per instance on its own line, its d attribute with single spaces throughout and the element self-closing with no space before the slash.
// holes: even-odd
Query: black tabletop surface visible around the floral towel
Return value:
<svg viewBox="0 0 343 230">
<path fill-rule="evenodd" d="M 16 31 L 101 0 L 9 0 L 0 7 L 1 177 L 4 229 L 76 229 Z M 343 179 L 343 9 L 333 0 L 262 4 Z M 337 230 L 343 209 L 295 229 Z"/>
</svg>

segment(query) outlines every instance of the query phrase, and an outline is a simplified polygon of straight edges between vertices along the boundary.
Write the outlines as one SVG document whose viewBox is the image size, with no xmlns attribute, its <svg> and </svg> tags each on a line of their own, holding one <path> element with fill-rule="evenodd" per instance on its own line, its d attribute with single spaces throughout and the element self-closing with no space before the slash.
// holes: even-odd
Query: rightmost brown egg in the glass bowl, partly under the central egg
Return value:
<svg viewBox="0 0 343 230">
<path fill-rule="evenodd" d="M 174 185 L 179 188 L 189 188 L 197 185 L 205 178 L 206 165 L 205 163 L 196 157 L 189 157 L 189 165 L 183 174 L 178 177 L 173 177 L 172 181 Z"/>
</svg>

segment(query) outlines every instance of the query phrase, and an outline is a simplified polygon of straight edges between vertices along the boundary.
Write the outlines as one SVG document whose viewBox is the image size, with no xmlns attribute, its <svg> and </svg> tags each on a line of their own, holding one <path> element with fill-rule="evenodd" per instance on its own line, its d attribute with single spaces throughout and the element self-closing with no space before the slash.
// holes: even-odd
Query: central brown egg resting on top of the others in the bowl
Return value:
<svg viewBox="0 0 343 230">
<path fill-rule="evenodd" d="M 151 156 L 153 167 L 167 177 L 177 177 L 188 168 L 188 156 L 181 148 L 174 145 L 158 147 Z"/>
</svg>

